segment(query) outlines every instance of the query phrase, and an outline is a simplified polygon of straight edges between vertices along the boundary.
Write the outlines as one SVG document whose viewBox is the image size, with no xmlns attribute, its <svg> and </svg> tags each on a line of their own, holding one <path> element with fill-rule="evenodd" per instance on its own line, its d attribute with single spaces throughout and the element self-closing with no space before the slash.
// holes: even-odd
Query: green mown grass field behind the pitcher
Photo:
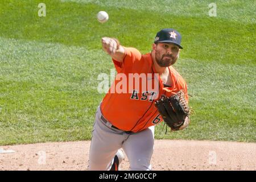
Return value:
<svg viewBox="0 0 256 182">
<path fill-rule="evenodd" d="M 101 37 L 146 53 L 167 27 L 183 35 L 175 68 L 196 114 L 188 129 L 166 135 L 160 124 L 155 137 L 256 142 L 255 1 L 216 1 L 216 17 L 212 1 L 45 0 L 39 17 L 41 2 L 0 2 L 0 145 L 89 140 L 105 95 L 97 76 L 114 68 Z"/>
</svg>

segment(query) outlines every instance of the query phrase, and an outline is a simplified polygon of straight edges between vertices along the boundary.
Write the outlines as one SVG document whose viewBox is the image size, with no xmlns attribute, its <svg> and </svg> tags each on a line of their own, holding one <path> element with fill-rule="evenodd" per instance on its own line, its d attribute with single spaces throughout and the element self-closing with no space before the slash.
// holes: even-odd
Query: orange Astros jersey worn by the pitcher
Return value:
<svg viewBox="0 0 256 182">
<path fill-rule="evenodd" d="M 180 74 L 170 66 L 172 85 L 171 87 L 164 87 L 162 80 L 155 71 L 151 53 L 142 55 L 135 48 L 124 48 L 125 57 L 122 63 L 113 60 L 118 74 L 101 102 L 101 112 L 118 129 L 135 133 L 163 120 L 154 105 L 154 101 L 159 100 L 161 96 L 170 97 L 179 90 L 183 90 L 185 99 L 188 101 L 187 84 Z M 146 75 L 146 80 L 139 83 L 138 80 L 137 82 L 129 82 L 134 74 L 137 76 Z M 156 88 L 154 84 L 151 84 L 154 88 L 148 89 L 147 86 L 150 85 L 150 81 L 157 82 Z M 139 84 L 139 88 L 134 89 L 136 84 Z M 142 85 L 146 85 L 146 89 L 143 89 Z M 120 89 L 123 92 L 120 92 Z"/>
</svg>

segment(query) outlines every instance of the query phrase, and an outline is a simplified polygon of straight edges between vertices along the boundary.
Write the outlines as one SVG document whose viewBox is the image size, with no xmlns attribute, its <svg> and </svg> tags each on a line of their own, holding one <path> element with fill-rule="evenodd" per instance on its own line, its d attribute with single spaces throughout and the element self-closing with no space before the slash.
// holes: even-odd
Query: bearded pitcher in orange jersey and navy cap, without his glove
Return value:
<svg viewBox="0 0 256 182">
<path fill-rule="evenodd" d="M 104 37 L 101 41 L 104 51 L 112 57 L 117 76 L 96 111 L 89 169 L 118 170 L 123 160 L 122 148 L 131 170 L 151 170 L 154 127 L 163 121 L 154 101 L 182 90 L 188 102 L 187 84 L 172 67 L 183 48 L 181 35 L 172 28 L 160 30 L 155 36 L 152 51 L 144 55 L 135 48 L 121 46 L 114 38 Z M 120 79 L 118 74 L 127 76 L 127 81 Z M 129 85 L 129 74 L 150 75 L 146 81 L 139 82 L 139 88 L 154 80 L 158 83 L 157 89 L 134 89 L 136 83 Z M 123 85 L 120 87 L 121 81 Z M 127 86 L 128 92 L 117 92 L 118 84 L 119 88 Z M 110 92 L 113 90 L 116 92 Z M 184 129 L 188 123 L 189 118 L 186 117 L 179 129 Z"/>
</svg>

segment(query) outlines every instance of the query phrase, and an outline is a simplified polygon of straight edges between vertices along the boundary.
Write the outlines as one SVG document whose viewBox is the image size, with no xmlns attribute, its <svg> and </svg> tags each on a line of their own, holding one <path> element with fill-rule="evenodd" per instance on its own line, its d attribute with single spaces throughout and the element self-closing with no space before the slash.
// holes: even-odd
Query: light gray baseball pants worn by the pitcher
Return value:
<svg viewBox="0 0 256 182">
<path fill-rule="evenodd" d="M 151 170 L 151 156 L 154 146 L 154 126 L 138 133 L 126 133 L 114 129 L 110 122 L 101 119 L 100 106 L 96 117 L 90 143 L 89 170 L 109 170 L 118 149 L 123 148 L 130 162 L 131 171 Z M 128 115 L 123 117 L 129 117 Z M 122 122 L 122 121 L 120 121 Z"/>
</svg>

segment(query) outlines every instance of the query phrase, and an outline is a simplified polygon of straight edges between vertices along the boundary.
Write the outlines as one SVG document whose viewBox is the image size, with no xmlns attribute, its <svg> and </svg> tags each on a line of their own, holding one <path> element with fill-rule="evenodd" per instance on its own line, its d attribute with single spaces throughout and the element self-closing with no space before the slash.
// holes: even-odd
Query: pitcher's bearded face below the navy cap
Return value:
<svg viewBox="0 0 256 182">
<path fill-rule="evenodd" d="M 160 67 L 170 67 L 179 58 L 179 47 L 171 43 L 158 43 L 155 47 L 155 60 Z"/>
</svg>

